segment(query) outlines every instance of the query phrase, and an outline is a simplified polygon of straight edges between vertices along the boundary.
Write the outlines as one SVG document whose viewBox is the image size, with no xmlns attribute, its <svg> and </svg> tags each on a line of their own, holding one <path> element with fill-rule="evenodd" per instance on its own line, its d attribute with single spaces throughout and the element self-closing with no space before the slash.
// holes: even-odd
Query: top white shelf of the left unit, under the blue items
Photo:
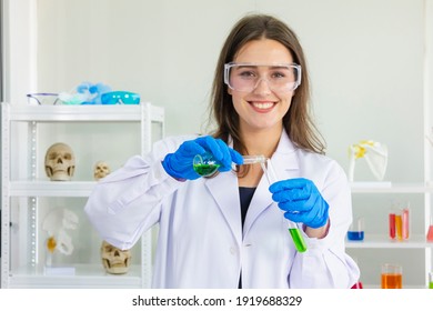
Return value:
<svg viewBox="0 0 433 311">
<path fill-rule="evenodd" d="M 89 104 L 89 106 L 10 106 L 10 119 L 14 121 L 140 121 L 143 109 L 150 109 L 151 121 L 163 121 L 163 109 L 142 104 Z"/>
</svg>

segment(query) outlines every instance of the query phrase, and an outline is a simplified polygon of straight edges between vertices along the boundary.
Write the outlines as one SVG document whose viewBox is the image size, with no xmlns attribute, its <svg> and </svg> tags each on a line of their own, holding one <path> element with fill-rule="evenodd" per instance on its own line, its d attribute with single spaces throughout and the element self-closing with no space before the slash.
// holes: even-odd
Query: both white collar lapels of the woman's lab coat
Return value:
<svg viewBox="0 0 433 311">
<path fill-rule="evenodd" d="M 272 164 L 279 179 L 289 179 L 299 177 L 299 159 L 293 146 L 285 131 L 282 132 L 279 146 L 271 158 Z M 222 214 L 235 240 L 242 241 L 242 224 L 239 199 L 238 177 L 234 173 L 220 173 L 216 178 L 205 181 L 205 185 L 216 201 Z M 244 235 L 253 225 L 258 217 L 273 203 L 269 192 L 269 182 L 263 174 L 255 193 L 251 200 L 246 219 L 244 222 Z"/>
</svg>

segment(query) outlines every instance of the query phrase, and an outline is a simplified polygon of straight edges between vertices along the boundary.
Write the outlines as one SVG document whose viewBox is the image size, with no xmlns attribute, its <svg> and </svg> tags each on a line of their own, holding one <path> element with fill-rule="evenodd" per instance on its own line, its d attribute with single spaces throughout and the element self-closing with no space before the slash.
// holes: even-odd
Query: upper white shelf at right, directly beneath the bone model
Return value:
<svg viewBox="0 0 433 311">
<path fill-rule="evenodd" d="M 352 182 L 352 193 L 427 193 L 433 192 L 431 183 Z"/>
</svg>

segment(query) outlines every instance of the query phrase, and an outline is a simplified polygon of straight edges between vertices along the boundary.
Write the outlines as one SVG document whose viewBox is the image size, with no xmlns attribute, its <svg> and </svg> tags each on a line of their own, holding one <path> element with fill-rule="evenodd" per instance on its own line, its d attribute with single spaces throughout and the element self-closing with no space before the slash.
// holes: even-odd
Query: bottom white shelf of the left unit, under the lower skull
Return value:
<svg viewBox="0 0 433 311">
<path fill-rule="evenodd" d="M 131 265 L 125 274 L 109 274 L 100 264 L 75 264 L 74 275 L 46 275 L 43 267 L 11 271 L 9 288 L 142 288 L 140 265 Z"/>
</svg>

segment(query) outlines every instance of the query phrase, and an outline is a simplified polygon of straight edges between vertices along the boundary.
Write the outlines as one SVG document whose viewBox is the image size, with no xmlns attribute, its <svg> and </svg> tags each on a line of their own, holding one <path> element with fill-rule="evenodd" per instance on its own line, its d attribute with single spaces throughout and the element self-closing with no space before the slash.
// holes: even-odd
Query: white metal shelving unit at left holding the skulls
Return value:
<svg viewBox="0 0 433 311">
<path fill-rule="evenodd" d="M 95 184 L 90 170 L 91 163 L 98 158 L 93 158 L 92 152 L 99 152 L 94 157 L 111 157 L 111 160 L 120 157 L 122 159 L 115 159 L 119 165 L 133 156 L 130 152 L 141 154 L 149 152 L 153 140 L 163 136 L 163 109 L 150 103 L 138 106 L 2 103 L 1 112 L 1 288 L 150 287 L 151 232 L 144 233 L 141 238 L 138 255 L 128 273 L 109 274 L 104 271 L 101 259 L 98 259 L 101 240 L 98 240 L 97 233 L 92 232 L 88 220 L 82 217 L 80 224 L 83 228 L 79 227 L 77 230 L 81 230 L 77 233 L 79 239 L 74 241 L 78 244 L 77 258 L 67 260 L 68 265 L 73 267 L 74 273 L 47 275 L 40 218 L 43 217 L 44 209 L 54 209 L 58 201 L 67 203 L 69 209 L 83 215 L 85 199 Z M 131 124 L 133 128 L 130 128 Z M 115 139 L 122 141 L 117 144 Z M 41 156 L 46 149 L 41 141 L 47 143 L 53 140 L 75 142 L 79 151 L 74 152 L 79 162 L 77 167 L 81 165 L 82 170 L 72 181 L 50 181 L 43 174 Z M 132 144 L 131 149 L 122 150 L 128 142 Z"/>
</svg>

